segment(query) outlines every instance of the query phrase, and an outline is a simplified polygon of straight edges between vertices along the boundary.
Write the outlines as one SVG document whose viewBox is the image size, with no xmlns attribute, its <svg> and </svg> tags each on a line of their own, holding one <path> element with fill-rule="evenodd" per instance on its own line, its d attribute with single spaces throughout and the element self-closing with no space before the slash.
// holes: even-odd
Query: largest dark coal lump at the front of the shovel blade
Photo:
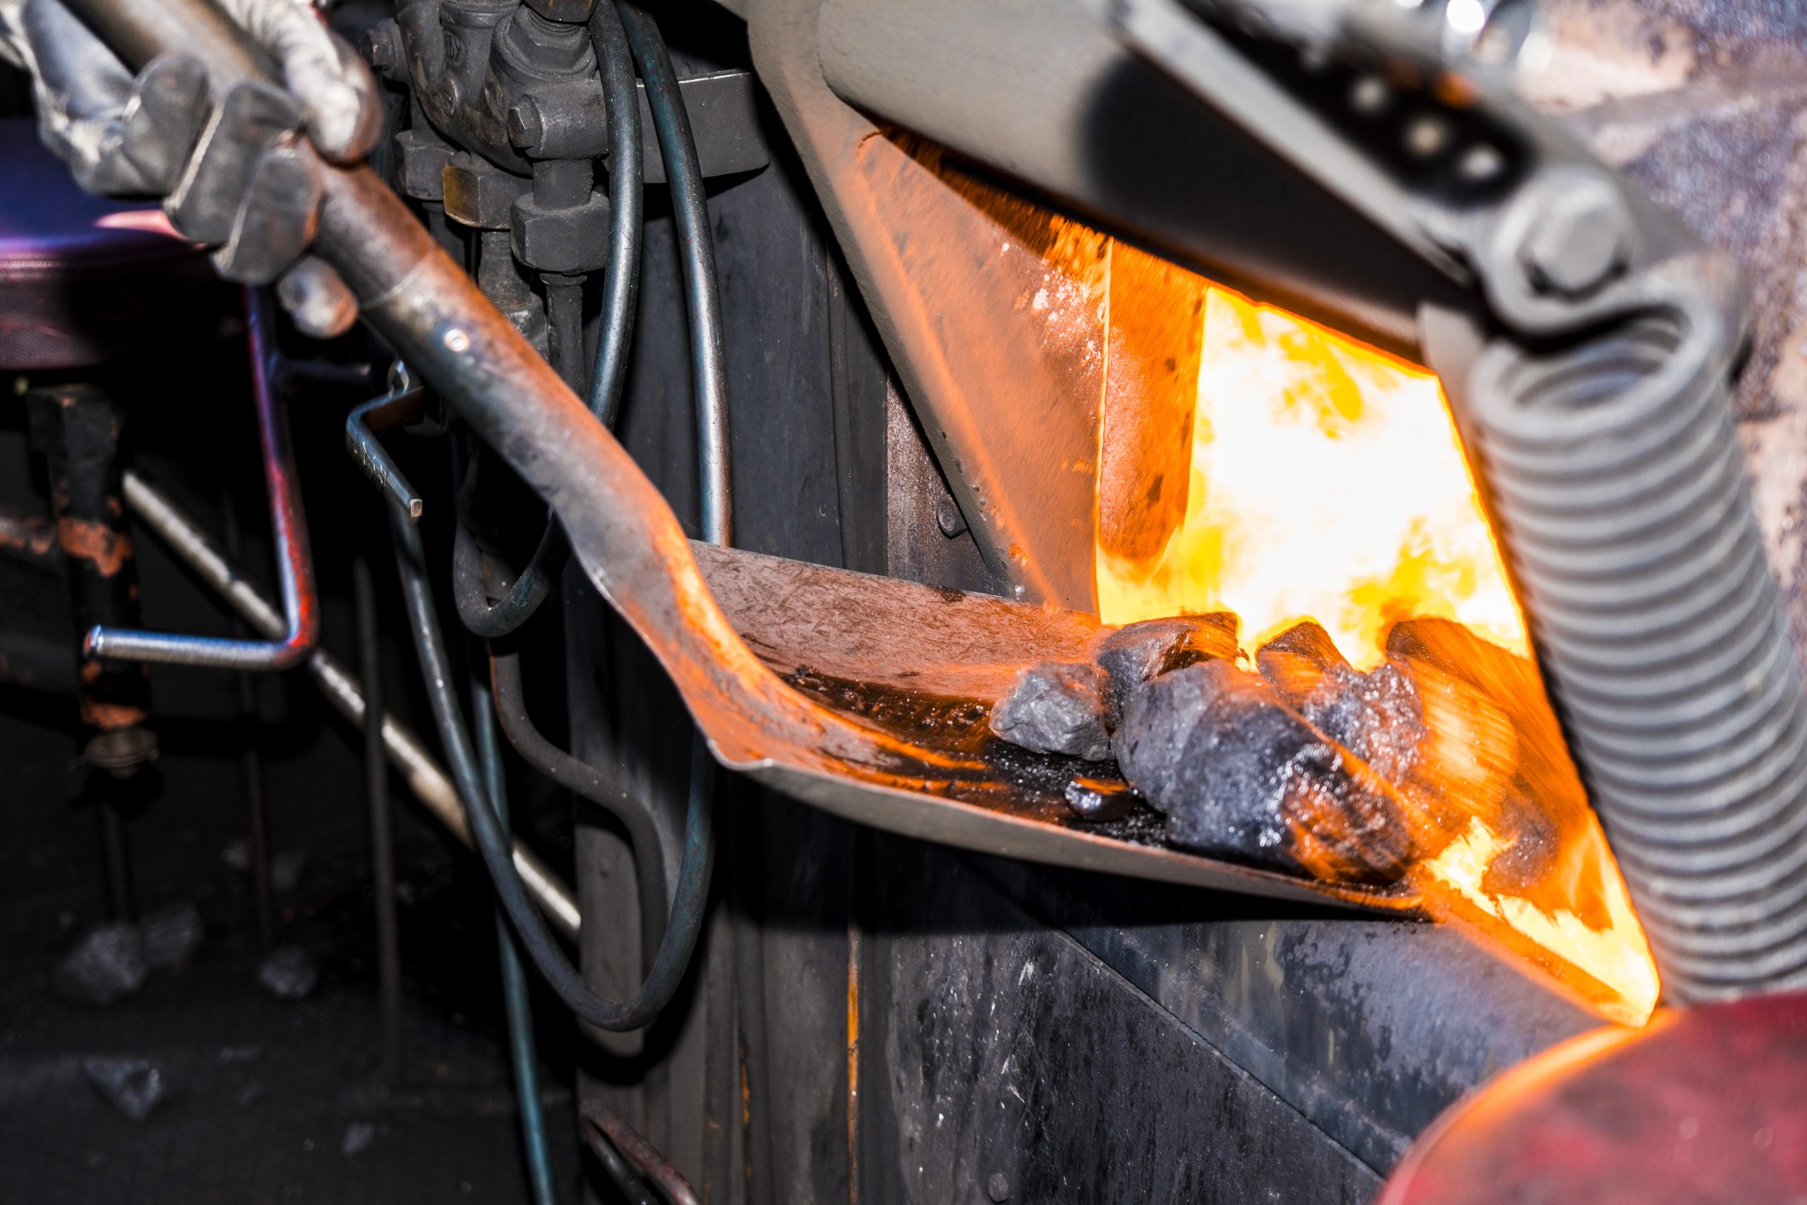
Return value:
<svg viewBox="0 0 1807 1205">
<path fill-rule="evenodd" d="M 1124 777 L 1167 815 L 1167 840 L 1326 882 L 1390 883 L 1411 833 L 1373 771 L 1227 661 L 1164 674 L 1129 697 Z"/>
</svg>

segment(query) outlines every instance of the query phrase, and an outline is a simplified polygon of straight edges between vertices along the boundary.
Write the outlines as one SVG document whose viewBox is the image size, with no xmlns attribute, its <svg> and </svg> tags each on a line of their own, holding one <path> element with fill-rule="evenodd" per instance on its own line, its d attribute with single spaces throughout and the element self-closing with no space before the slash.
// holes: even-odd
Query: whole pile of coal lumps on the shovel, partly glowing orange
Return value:
<svg viewBox="0 0 1807 1205">
<path fill-rule="evenodd" d="M 1372 670 L 1310 621 L 1252 668 L 1232 614 L 1131 623 L 1090 661 L 1023 670 L 990 730 L 1115 757 L 1128 789 L 1070 789 L 1081 820 L 1140 800 L 1173 845 L 1323 882 L 1397 882 L 1480 820 L 1509 840 L 1484 887 L 1521 891 L 1563 873 L 1587 815 L 1536 668 L 1446 620 L 1397 623 Z"/>
</svg>

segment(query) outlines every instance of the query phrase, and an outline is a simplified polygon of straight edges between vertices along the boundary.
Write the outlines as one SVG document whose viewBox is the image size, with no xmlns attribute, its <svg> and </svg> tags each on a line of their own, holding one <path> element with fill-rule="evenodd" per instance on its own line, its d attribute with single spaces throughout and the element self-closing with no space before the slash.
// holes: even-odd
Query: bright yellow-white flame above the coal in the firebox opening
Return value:
<svg viewBox="0 0 1807 1205">
<path fill-rule="evenodd" d="M 1408 616 L 1529 647 L 1437 378 L 1218 285 L 1185 522 L 1097 584 L 1108 623 L 1234 611 L 1250 650 L 1314 618 L 1357 668 Z"/>
</svg>

